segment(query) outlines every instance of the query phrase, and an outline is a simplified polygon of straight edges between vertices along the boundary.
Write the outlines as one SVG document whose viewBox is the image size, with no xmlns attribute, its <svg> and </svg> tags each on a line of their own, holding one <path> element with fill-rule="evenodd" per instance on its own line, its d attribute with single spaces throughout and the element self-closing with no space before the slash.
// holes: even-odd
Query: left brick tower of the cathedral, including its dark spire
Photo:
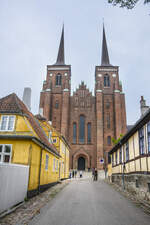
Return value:
<svg viewBox="0 0 150 225">
<path fill-rule="evenodd" d="M 54 65 L 47 66 L 47 77 L 40 96 L 40 113 L 54 128 L 68 136 L 71 66 L 65 64 L 64 26 Z"/>
</svg>

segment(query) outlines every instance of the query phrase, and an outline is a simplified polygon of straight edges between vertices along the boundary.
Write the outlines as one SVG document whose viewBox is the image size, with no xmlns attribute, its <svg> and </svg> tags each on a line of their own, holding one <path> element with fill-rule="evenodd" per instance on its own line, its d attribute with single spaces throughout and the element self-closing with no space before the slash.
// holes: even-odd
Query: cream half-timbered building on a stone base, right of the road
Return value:
<svg viewBox="0 0 150 225">
<path fill-rule="evenodd" d="M 109 154 L 112 181 L 150 200 L 150 109 Z"/>
</svg>

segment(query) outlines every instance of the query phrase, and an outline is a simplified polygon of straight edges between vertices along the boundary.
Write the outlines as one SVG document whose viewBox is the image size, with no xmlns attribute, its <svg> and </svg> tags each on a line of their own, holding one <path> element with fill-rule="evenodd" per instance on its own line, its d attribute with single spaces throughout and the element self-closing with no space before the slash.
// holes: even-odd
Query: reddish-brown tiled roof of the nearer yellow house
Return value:
<svg viewBox="0 0 150 225">
<path fill-rule="evenodd" d="M 15 93 L 0 99 L 0 113 L 16 113 L 16 114 L 21 113 L 24 116 L 26 116 L 32 128 L 38 135 L 40 141 L 44 145 L 46 145 L 52 152 L 59 155 L 55 146 L 49 143 L 48 138 L 44 133 L 43 129 L 40 127 L 38 120 L 27 109 L 26 105 L 18 98 L 18 96 Z"/>
</svg>

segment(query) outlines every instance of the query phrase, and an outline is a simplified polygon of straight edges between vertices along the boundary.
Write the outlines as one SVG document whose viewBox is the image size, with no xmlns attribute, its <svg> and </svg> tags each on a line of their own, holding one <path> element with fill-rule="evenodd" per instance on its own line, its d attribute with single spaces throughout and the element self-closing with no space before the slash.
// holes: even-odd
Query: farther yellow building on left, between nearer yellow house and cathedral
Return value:
<svg viewBox="0 0 150 225">
<path fill-rule="evenodd" d="M 66 139 L 57 132 L 45 118 L 41 115 L 37 115 L 36 118 L 39 120 L 40 126 L 45 131 L 50 143 L 54 144 L 61 158 L 58 162 L 53 162 L 53 168 L 59 168 L 59 178 L 61 180 L 69 178 L 69 151 L 70 146 Z"/>
</svg>

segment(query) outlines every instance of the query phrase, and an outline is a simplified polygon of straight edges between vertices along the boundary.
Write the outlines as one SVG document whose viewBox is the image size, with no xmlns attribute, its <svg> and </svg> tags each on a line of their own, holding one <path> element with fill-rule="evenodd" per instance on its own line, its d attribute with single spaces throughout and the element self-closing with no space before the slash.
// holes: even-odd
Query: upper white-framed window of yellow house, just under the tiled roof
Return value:
<svg viewBox="0 0 150 225">
<path fill-rule="evenodd" d="M 13 131 L 15 124 L 15 116 L 2 116 L 0 123 L 1 131 Z"/>
</svg>

